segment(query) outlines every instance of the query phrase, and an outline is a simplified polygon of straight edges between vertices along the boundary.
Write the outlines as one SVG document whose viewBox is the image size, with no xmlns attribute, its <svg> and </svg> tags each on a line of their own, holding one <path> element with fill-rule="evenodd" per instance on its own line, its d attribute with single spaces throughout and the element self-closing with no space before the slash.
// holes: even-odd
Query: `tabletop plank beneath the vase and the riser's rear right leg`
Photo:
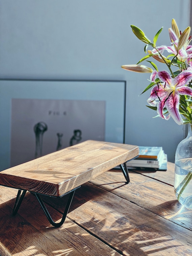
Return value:
<svg viewBox="0 0 192 256">
<path fill-rule="evenodd" d="M 172 186 L 135 172 L 130 172 L 129 177 L 129 184 L 118 182 L 121 179 L 121 172 L 114 170 L 107 171 L 90 182 L 192 230 L 192 211 L 178 202 Z"/>
</svg>

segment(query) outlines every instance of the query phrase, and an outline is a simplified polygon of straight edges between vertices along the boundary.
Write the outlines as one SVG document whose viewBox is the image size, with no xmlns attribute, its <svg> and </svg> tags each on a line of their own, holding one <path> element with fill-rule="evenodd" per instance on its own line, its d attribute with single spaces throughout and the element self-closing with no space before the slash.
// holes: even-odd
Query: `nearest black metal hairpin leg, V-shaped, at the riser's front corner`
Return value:
<svg viewBox="0 0 192 256">
<path fill-rule="evenodd" d="M 79 187 L 80 187 L 80 186 L 79 186 Z M 79 187 L 77 187 L 77 188 L 79 188 Z M 73 199 L 75 190 L 76 190 L 77 188 L 75 188 L 75 189 L 73 189 L 73 190 L 71 190 L 71 191 L 69 192 L 70 195 L 69 195 L 69 198 L 68 198 L 66 207 L 65 207 L 65 211 L 64 211 L 64 213 L 63 213 L 63 217 L 62 217 L 61 221 L 60 221 L 60 222 L 57 222 L 57 223 L 53 221 L 53 219 L 52 219 L 51 215 L 49 214 L 49 212 L 47 211 L 46 206 L 44 205 L 44 203 L 43 203 L 43 201 L 42 201 L 40 195 L 37 194 L 37 193 L 34 193 L 35 196 L 37 197 L 37 200 L 39 201 L 39 203 L 40 203 L 40 205 L 41 205 L 41 207 L 42 207 L 42 209 L 43 209 L 43 211 L 44 211 L 44 213 L 45 213 L 47 219 L 49 220 L 49 222 L 50 222 L 54 227 L 60 227 L 61 225 L 63 225 L 63 223 L 64 223 L 64 221 L 65 221 L 65 219 L 66 219 L 67 213 L 68 213 L 68 211 L 69 211 L 69 207 L 70 207 L 70 205 L 71 205 L 71 202 L 72 202 L 72 199 Z"/>
</svg>

